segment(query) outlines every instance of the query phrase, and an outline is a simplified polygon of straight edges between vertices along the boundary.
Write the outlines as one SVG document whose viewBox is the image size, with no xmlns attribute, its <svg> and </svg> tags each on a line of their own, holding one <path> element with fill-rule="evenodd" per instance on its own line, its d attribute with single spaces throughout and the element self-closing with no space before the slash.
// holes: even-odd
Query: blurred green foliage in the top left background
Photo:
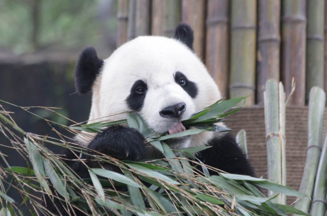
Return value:
<svg viewBox="0 0 327 216">
<path fill-rule="evenodd" d="M 32 43 L 35 2 L 39 11 L 37 47 Z M 0 49 L 20 54 L 37 48 L 79 50 L 98 44 L 104 32 L 116 28 L 116 7 L 117 1 L 112 0 L 2 0 Z"/>
</svg>

